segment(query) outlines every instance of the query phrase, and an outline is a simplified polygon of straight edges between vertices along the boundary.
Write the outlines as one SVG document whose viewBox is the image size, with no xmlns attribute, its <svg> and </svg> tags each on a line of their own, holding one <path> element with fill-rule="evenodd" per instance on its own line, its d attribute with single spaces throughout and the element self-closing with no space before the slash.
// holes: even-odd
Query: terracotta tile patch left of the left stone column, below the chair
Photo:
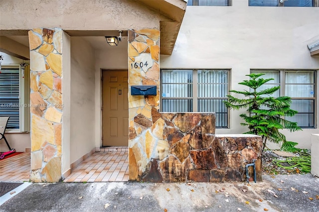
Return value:
<svg viewBox="0 0 319 212">
<path fill-rule="evenodd" d="M 1 182 L 29 182 L 30 152 L 23 152 L 0 160 Z"/>
</svg>

